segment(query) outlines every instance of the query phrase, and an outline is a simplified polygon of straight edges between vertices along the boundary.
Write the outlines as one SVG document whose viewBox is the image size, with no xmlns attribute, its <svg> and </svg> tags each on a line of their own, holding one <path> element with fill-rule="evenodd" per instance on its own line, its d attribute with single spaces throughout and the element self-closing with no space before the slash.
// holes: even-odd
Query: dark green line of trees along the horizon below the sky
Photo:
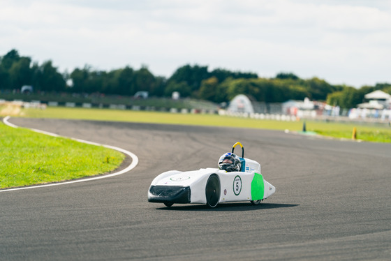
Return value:
<svg viewBox="0 0 391 261">
<path fill-rule="evenodd" d="M 282 103 L 286 100 L 324 100 L 330 105 L 355 107 L 364 95 L 381 89 L 391 94 L 391 84 L 376 84 L 360 89 L 346 85 L 333 85 L 312 77 L 300 79 L 293 73 L 279 73 L 274 78 L 258 77 L 256 73 L 243 73 L 207 66 L 189 64 L 181 66 L 168 78 L 155 76 L 142 66 L 130 66 L 110 71 L 94 70 L 91 66 L 75 68 L 71 73 L 60 73 L 52 61 L 38 64 L 30 57 L 22 57 L 10 50 L 0 57 L 0 91 L 20 89 L 32 85 L 34 91 L 71 92 L 79 94 L 101 93 L 133 96 L 138 91 L 148 91 L 149 96 L 170 97 L 178 91 L 181 97 L 228 102 L 237 94 L 265 103 Z"/>
</svg>

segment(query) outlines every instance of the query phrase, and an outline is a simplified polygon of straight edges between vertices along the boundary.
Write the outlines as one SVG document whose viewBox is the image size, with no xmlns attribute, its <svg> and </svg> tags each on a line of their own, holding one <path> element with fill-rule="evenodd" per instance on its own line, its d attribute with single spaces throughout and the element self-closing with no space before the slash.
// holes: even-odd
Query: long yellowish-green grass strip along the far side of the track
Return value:
<svg viewBox="0 0 391 261">
<path fill-rule="evenodd" d="M 303 121 L 275 121 L 237 117 L 223 117 L 216 114 L 173 114 L 165 112 L 142 112 L 131 110 L 101 110 L 84 108 L 48 107 L 46 110 L 22 110 L 24 117 L 90 119 L 102 121 L 131 121 L 157 124 L 185 124 L 200 126 L 225 126 L 239 128 L 260 128 L 270 130 L 302 130 Z M 353 128 L 357 128 L 357 139 L 370 142 L 391 142 L 391 128 L 388 125 L 344 124 L 325 121 L 306 121 L 308 131 L 320 135 L 351 139 Z"/>
</svg>

